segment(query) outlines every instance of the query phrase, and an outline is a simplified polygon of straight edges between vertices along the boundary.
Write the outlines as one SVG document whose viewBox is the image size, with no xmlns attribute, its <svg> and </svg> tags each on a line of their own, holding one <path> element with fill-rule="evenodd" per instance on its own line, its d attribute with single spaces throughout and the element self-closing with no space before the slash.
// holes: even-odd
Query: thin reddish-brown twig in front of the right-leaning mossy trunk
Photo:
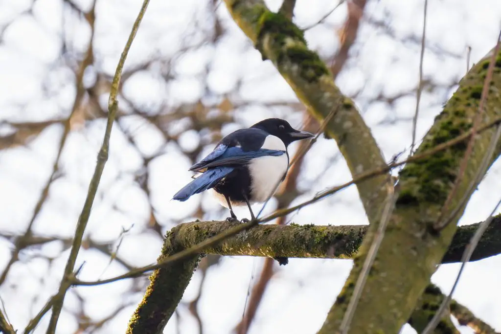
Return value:
<svg viewBox="0 0 501 334">
<path fill-rule="evenodd" d="M 494 51 L 492 53 L 492 56 L 490 58 L 489 66 L 487 68 L 487 74 L 485 76 L 485 80 L 483 82 L 483 88 L 482 88 L 482 94 L 480 96 L 480 103 L 478 106 L 478 111 L 475 115 L 475 118 L 473 120 L 473 126 L 471 129 L 472 136 L 470 140 L 468 141 L 468 146 L 466 147 L 466 151 L 464 152 L 463 159 L 461 161 L 461 164 L 459 165 L 459 172 L 457 174 L 456 180 L 454 182 L 454 186 L 452 190 L 449 192 L 449 195 L 447 196 L 447 199 L 445 200 L 445 203 L 442 207 L 442 210 L 440 212 L 440 216 L 438 217 L 436 223 L 433 225 L 433 228 L 437 231 L 443 229 L 445 226 L 447 226 L 447 219 L 443 219 L 445 213 L 448 210 L 448 206 L 450 202 L 452 201 L 452 198 L 454 198 L 459 185 L 461 184 L 464 171 L 466 170 L 466 166 L 468 165 L 468 160 L 471 156 L 471 153 L 473 152 L 473 143 L 475 141 L 475 134 L 477 131 L 478 126 L 480 125 L 481 121 L 481 115 L 483 114 L 483 105 L 485 104 L 485 100 L 487 99 L 487 95 L 489 94 L 489 86 L 490 82 L 492 81 L 492 73 L 494 72 L 494 64 L 496 60 L 497 53 L 499 51 L 499 42 L 501 42 L 501 30 L 499 30 L 499 35 L 497 36 L 497 43 L 494 48 Z"/>
</svg>

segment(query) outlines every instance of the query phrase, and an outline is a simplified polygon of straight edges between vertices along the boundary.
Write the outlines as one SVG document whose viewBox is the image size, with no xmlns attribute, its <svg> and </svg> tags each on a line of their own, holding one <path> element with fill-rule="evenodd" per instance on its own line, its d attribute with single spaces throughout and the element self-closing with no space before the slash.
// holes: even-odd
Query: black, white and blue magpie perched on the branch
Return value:
<svg viewBox="0 0 501 334">
<path fill-rule="evenodd" d="M 313 134 L 294 129 L 280 118 L 269 118 L 249 128 L 225 136 L 205 158 L 189 168 L 201 173 L 174 196 L 186 201 L 190 196 L 212 189 L 220 204 L 229 209 L 226 220 L 238 220 L 233 206 L 250 205 L 272 197 L 289 169 L 287 148 L 294 141 Z M 242 219 L 248 221 L 248 219 Z"/>
</svg>

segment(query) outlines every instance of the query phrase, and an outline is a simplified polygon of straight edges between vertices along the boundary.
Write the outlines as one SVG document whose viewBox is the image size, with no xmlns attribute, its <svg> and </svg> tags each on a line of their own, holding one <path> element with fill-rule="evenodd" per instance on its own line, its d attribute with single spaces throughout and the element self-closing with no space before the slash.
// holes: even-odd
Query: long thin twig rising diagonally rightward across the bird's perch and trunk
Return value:
<svg viewBox="0 0 501 334">
<path fill-rule="evenodd" d="M 494 126 L 494 125 L 497 125 L 501 123 L 501 117 L 499 118 L 496 118 L 495 120 L 493 121 L 490 121 L 482 126 L 480 126 L 477 130 L 477 134 L 478 133 L 481 133 L 483 131 L 485 131 L 486 129 L 489 129 L 490 127 Z M 428 151 L 425 151 L 425 152 L 422 152 L 420 154 L 415 154 L 413 155 L 412 157 L 409 157 L 407 158 L 406 160 L 403 160 L 403 161 L 399 161 L 399 162 L 393 162 L 391 164 L 388 164 L 388 165 L 385 165 L 383 167 L 380 167 L 380 168 L 376 168 L 376 169 L 372 169 L 370 171 L 367 171 L 367 172 L 364 172 L 364 173 L 361 173 L 359 174 L 356 178 L 352 179 L 351 181 L 348 181 L 342 185 L 339 185 L 339 186 L 335 186 L 335 187 L 332 187 L 330 189 L 327 189 L 325 190 L 324 192 L 321 192 L 319 193 L 318 195 L 316 195 L 315 197 L 313 197 L 312 199 L 308 200 L 308 201 L 305 201 L 301 204 L 298 204 L 296 206 L 293 206 L 291 208 L 287 208 L 287 209 L 281 209 L 281 210 L 277 210 L 275 211 L 274 213 L 268 215 L 267 217 L 264 217 L 262 219 L 259 219 L 259 220 L 253 220 L 253 221 L 249 221 L 247 223 L 242 223 L 242 224 L 239 224 L 235 227 L 232 227 L 232 228 L 229 228 L 227 230 L 225 230 L 224 232 L 220 233 L 220 234 L 217 234 L 213 237 L 210 237 L 210 238 L 207 238 L 205 239 L 204 241 L 196 244 L 196 245 L 193 245 L 192 247 L 190 248 L 187 248 L 187 249 L 184 249 L 176 254 L 173 254 L 171 256 L 168 256 L 166 258 L 164 258 L 162 261 L 156 263 L 156 264 L 152 264 L 152 265 L 147 265 L 147 266 L 143 266 L 143 267 L 140 267 L 140 268 L 136 268 L 134 270 L 131 270 L 125 274 L 122 274 L 122 275 L 119 275 L 119 276 L 115 276 L 115 277 L 111 277 L 111 278 L 108 278 L 108 279 L 103 279 L 103 280 L 99 280 L 99 281 L 82 281 L 82 280 L 79 280 L 79 279 L 76 279 L 75 277 L 72 277 L 71 278 L 71 282 L 73 285 L 100 285 L 100 284 L 107 284 L 107 283 L 110 283 L 110 282 L 114 282 L 114 281 L 117 281 L 117 280 L 120 280 L 120 279 L 124 279 L 124 278 L 131 278 L 131 277 L 137 277 L 139 275 L 141 275 L 142 273 L 144 272 L 147 272 L 147 271 L 151 271 L 151 270 L 155 270 L 155 269 L 158 269 L 158 268 L 161 268 L 163 266 L 165 266 L 166 264 L 168 263 L 172 263 L 174 261 L 178 261 L 178 260 L 182 260 L 186 257 L 189 257 L 193 254 L 196 254 L 196 253 L 200 253 L 202 252 L 204 249 L 206 249 L 207 247 L 210 247 L 210 246 L 213 246 L 217 243 L 219 243 L 220 241 L 226 239 L 226 238 L 229 238 L 233 235 L 236 235 L 238 234 L 239 232 L 243 231 L 243 230 L 246 230 L 246 229 L 249 229 L 249 228 L 252 228 L 254 227 L 255 225 L 258 225 L 259 223 L 263 223 L 263 222 L 268 222 L 268 221 L 271 221 L 275 218 L 278 218 L 278 217 L 281 217 L 281 216 L 284 216 L 286 214 L 289 214 L 293 211 L 296 211 L 302 207 L 305 207 L 307 205 L 310 205 L 312 203 L 315 203 L 317 201 L 319 201 L 320 199 L 324 198 L 324 197 L 327 197 L 329 195 L 332 195 L 334 193 L 336 193 L 337 191 L 341 190 L 341 189 L 344 189 L 352 184 L 356 184 L 358 182 L 362 182 L 362 181 L 365 181 L 366 179 L 370 178 L 370 177 L 374 177 L 374 176 L 377 176 L 377 175 L 380 175 L 380 174 L 383 174 L 383 173 L 386 173 L 388 171 L 390 171 L 391 169 L 395 168 L 395 167 L 398 167 L 398 166 L 401 166 L 401 165 L 404 165 L 406 163 L 409 163 L 409 162 L 415 162 L 415 161 L 419 161 L 419 160 L 422 160 L 430 155 L 433 155 L 437 152 L 441 152 L 451 146 L 454 146 L 464 140 L 467 140 L 468 138 L 470 138 L 472 134 L 472 131 L 467 131 L 457 137 L 455 137 L 454 139 L 451 139 L 445 143 L 441 143 L 437 146 L 435 146 L 433 149 L 430 149 Z"/>
</svg>

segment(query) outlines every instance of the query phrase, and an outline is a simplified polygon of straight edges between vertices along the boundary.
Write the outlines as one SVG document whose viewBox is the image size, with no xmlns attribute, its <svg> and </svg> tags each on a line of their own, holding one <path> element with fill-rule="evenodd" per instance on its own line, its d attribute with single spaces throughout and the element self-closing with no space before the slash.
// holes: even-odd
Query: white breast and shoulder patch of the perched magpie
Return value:
<svg viewBox="0 0 501 334">
<path fill-rule="evenodd" d="M 284 142 L 275 136 L 269 135 L 261 148 L 286 151 Z M 250 188 L 253 202 L 264 202 L 277 191 L 284 174 L 287 172 L 288 159 L 284 153 L 280 156 L 266 156 L 253 159 L 249 165 L 252 186 Z"/>
</svg>

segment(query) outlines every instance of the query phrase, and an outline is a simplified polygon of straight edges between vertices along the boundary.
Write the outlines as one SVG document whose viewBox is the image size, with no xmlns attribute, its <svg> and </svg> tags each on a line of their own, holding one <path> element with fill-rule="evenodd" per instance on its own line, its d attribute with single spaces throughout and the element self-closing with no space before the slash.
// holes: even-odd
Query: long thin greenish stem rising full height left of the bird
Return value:
<svg viewBox="0 0 501 334">
<path fill-rule="evenodd" d="M 144 13 L 146 12 L 146 8 L 148 7 L 148 3 L 149 0 L 144 0 L 141 10 L 136 18 L 136 21 L 134 22 L 134 26 L 132 27 L 129 39 L 127 40 L 125 48 L 120 56 L 117 69 L 115 71 L 115 76 L 113 77 L 113 82 L 111 84 L 111 90 L 110 90 L 110 98 L 108 100 L 108 113 L 109 113 L 108 122 L 106 124 L 103 144 L 101 146 L 101 149 L 99 150 L 96 169 L 94 170 L 94 175 L 92 176 L 91 182 L 89 184 L 89 190 L 87 193 L 87 198 L 85 199 L 84 207 L 82 208 L 82 212 L 78 219 L 77 227 L 75 230 L 75 237 L 73 239 L 73 245 L 70 251 L 70 256 L 68 258 L 68 262 L 66 263 L 63 279 L 61 280 L 61 285 L 59 287 L 59 292 L 58 292 L 59 296 L 58 299 L 54 302 L 54 305 L 52 307 L 52 315 L 49 321 L 47 334 L 55 333 L 57 322 L 59 319 L 59 314 L 61 313 L 61 309 L 63 308 L 63 302 L 66 291 L 71 286 L 71 277 L 73 268 L 75 266 L 75 262 L 77 261 L 77 255 L 80 250 L 80 246 L 82 245 L 82 238 L 85 232 L 85 228 L 87 226 L 87 222 L 89 221 L 92 204 L 94 203 L 94 198 L 96 196 L 97 188 L 99 186 L 99 181 L 101 180 L 101 175 L 103 174 L 104 166 L 106 164 L 106 161 L 108 160 L 111 128 L 113 126 L 115 115 L 118 110 L 117 95 L 118 95 L 118 87 L 120 84 L 120 78 L 122 75 L 122 69 L 125 63 L 125 59 L 127 58 L 127 54 L 129 53 L 130 47 L 132 45 L 132 41 L 136 36 L 141 20 L 143 19 Z"/>
</svg>

